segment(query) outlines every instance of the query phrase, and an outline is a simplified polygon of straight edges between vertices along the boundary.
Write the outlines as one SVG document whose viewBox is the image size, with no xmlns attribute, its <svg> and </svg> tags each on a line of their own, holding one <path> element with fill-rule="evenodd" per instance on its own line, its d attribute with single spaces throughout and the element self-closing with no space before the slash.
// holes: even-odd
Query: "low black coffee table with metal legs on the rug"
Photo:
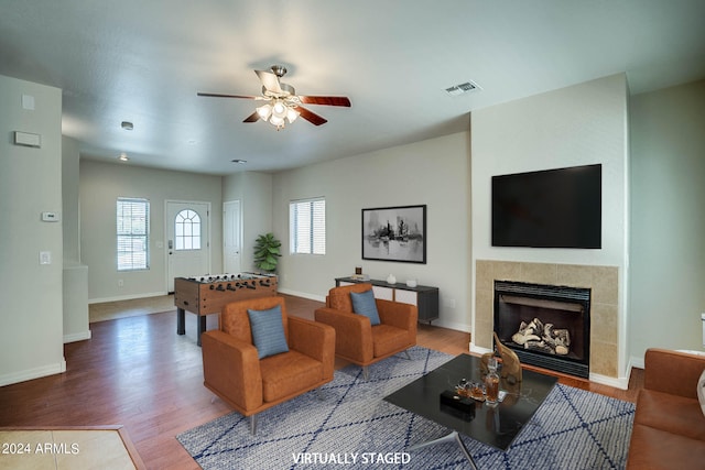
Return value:
<svg viewBox="0 0 705 470">
<path fill-rule="evenodd" d="M 473 468 L 477 468 L 458 433 L 500 450 L 507 450 L 557 382 L 555 376 L 528 370 L 522 372 L 522 382 L 513 386 L 503 380 L 500 382 L 500 390 L 506 391 L 507 396 L 496 405 L 476 402 L 470 409 L 462 411 L 442 404 L 441 393 L 446 390 L 454 391 L 460 379 L 476 382 L 482 379 L 479 358 L 460 354 L 386 396 L 384 400 L 453 429 L 447 436 L 413 446 L 410 450 L 455 441 Z"/>
</svg>

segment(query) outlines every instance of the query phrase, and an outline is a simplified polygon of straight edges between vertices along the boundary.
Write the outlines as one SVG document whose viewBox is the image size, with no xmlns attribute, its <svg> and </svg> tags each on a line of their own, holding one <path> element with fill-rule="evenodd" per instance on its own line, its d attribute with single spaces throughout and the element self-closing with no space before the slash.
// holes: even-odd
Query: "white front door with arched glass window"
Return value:
<svg viewBox="0 0 705 470">
<path fill-rule="evenodd" d="M 210 273 L 210 204 L 166 201 L 166 287 L 174 277 Z"/>
</svg>

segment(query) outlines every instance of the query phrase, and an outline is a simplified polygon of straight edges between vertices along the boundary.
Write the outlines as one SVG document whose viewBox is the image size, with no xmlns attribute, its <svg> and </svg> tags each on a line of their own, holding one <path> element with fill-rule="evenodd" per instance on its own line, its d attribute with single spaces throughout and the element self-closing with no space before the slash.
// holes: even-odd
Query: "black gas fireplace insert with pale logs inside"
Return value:
<svg viewBox="0 0 705 470">
<path fill-rule="evenodd" d="M 495 281 L 495 332 L 521 362 L 587 379 L 590 289 Z"/>
</svg>

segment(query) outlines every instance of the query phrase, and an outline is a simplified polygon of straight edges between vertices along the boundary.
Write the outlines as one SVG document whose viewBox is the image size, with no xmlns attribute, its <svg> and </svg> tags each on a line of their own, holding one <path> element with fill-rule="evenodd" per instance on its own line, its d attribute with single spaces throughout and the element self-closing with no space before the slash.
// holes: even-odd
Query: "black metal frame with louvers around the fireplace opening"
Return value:
<svg viewBox="0 0 705 470">
<path fill-rule="evenodd" d="M 502 296 L 525 297 L 530 299 L 577 304 L 583 308 L 583 331 L 579 338 L 574 338 L 579 345 L 579 357 L 557 356 L 533 349 L 524 349 L 508 338 L 508 332 L 500 331 L 500 303 Z M 494 331 L 500 341 L 511 348 L 523 363 L 567 373 L 571 375 L 589 378 L 590 356 L 590 297 L 592 289 L 583 287 L 567 287 L 556 285 L 530 284 L 516 281 L 495 281 Z M 513 327 L 512 327 L 513 328 Z M 514 331 L 516 332 L 516 331 Z M 511 334 L 509 334 L 511 335 Z M 572 332 L 572 335 L 574 335 Z"/>
</svg>

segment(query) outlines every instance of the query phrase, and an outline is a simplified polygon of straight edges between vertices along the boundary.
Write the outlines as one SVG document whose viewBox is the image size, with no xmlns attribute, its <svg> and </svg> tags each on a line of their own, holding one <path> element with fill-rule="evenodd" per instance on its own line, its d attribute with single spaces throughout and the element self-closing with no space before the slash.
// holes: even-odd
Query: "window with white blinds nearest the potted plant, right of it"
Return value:
<svg viewBox="0 0 705 470">
<path fill-rule="evenodd" d="M 326 254 L 326 200 L 293 200 L 289 204 L 290 252 Z"/>
</svg>

